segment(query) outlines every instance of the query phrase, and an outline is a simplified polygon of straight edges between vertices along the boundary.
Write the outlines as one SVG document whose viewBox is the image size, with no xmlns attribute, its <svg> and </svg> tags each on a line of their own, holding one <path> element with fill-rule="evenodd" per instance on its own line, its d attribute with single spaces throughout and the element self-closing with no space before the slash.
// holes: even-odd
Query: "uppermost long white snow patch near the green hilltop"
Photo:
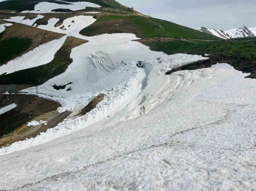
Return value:
<svg viewBox="0 0 256 191">
<path fill-rule="evenodd" d="M 86 7 L 100 7 L 97 4 L 84 1 L 67 3 L 69 3 L 69 5 L 62 5 L 50 2 L 39 2 L 37 5 L 35 5 L 34 11 L 22 11 L 22 13 L 51 13 L 54 9 L 70 9 L 72 11 L 77 11 L 80 9 L 85 9 Z"/>
</svg>

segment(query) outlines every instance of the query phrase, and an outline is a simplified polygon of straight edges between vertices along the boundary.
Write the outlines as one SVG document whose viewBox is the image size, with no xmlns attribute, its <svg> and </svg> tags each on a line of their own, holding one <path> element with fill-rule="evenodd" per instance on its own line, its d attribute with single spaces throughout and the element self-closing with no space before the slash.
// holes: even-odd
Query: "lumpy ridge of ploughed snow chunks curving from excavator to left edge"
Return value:
<svg viewBox="0 0 256 191">
<path fill-rule="evenodd" d="M 95 93 L 95 96 L 100 93 L 104 93 L 105 97 L 104 100 L 100 102 L 94 110 L 90 111 L 85 116 L 65 120 L 53 129 L 48 129 L 45 133 L 41 133 L 36 138 L 30 138 L 26 139 L 25 141 L 19 141 L 12 144 L 9 147 L 5 147 L 0 150 L 0 155 L 14 152 L 20 149 L 26 149 L 28 147 L 35 146 L 38 144 L 42 144 L 47 141 L 61 137 L 65 134 L 69 134 L 79 129 L 83 129 L 86 126 L 89 126 L 95 122 L 98 122 L 106 118 L 110 112 L 116 111 L 120 109 L 120 107 L 122 108 L 126 106 L 127 101 L 131 101 L 140 93 L 141 81 L 145 77 L 145 73 L 143 72 L 143 70 L 139 70 L 139 68 L 136 67 L 135 63 L 130 63 L 129 65 L 120 68 L 120 70 L 129 71 L 126 73 L 127 80 L 112 87 L 111 90 L 107 92 Z M 118 70 L 114 73 L 122 74 L 122 72 Z M 50 99 L 56 100 L 55 98 Z M 91 99 L 87 100 L 86 104 L 88 104 Z M 76 106 L 77 108 L 80 107 L 80 105 Z M 34 126 L 39 125 L 40 123 L 38 121 L 32 121 L 32 123 L 29 123 L 28 125 Z"/>
</svg>

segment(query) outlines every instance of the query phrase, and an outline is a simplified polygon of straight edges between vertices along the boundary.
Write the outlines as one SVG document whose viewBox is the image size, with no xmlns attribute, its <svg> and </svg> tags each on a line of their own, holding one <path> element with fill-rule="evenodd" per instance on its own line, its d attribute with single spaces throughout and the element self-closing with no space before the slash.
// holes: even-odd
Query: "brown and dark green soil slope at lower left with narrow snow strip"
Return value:
<svg viewBox="0 0 256 191">
<path fill-rule="evenodd" d="M 35 95 L 1 94 L 0 98 L 0 107 L 17 104 L 14 109 L 0 115 L 0 137 L 26 125 L 31 119 L 60 107 L 56 101 Z"/>
</svg>

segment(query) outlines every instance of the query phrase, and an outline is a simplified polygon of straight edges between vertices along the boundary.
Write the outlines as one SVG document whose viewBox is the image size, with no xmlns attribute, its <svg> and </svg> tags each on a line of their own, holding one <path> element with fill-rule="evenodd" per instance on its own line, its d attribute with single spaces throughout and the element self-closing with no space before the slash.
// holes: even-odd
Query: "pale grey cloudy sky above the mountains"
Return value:
<svg viewBox="0 0 256 191">
<path fill-rule="evenodd" d="M 117 0 L 143 14 L 190 28 L 256 27 L 256 0 Z"/>
</svg>

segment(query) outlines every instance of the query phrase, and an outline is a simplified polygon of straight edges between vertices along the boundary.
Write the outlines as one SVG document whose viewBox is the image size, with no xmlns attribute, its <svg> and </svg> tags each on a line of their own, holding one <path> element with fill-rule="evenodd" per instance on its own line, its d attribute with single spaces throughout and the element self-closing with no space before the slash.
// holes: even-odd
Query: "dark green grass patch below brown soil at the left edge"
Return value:
<svg viewBox="0 0 256 191">
<path fill-rule="evenodd" d="M 3 34 L 0 35 L 0 39 Z M 30 38 L 11 37 L 0 41 L 0 66 L 21 55 L 31 46 Z"/>
</svg>

